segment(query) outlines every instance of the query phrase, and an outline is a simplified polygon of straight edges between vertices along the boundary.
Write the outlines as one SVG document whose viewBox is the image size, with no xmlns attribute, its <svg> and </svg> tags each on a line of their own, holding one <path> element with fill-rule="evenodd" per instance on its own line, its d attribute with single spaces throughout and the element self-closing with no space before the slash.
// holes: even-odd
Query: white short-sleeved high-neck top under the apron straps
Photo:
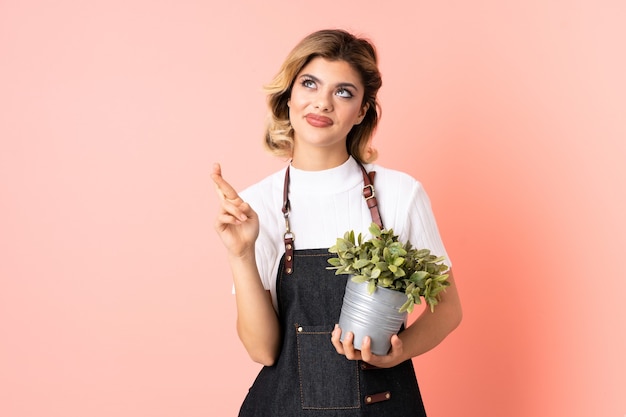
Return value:
<svg viewBox="0 0 626 417">
<path fill-rule="evenodd" d="M 364 166 L 368 172 L 376 171 L 374 189 L 384 227 L 393 229 L 402 242 L 408 240 L 416 248 L 427 248 L 437 256 L 445 256 L 446 265 L 452 266 L 422 185 L 400 171 L 375 164 Z M 276 274 L 285 252 L 282 212 L 285 169 L 240 193 L 259 216 L 257 266 L 263 286 L 272 293 L 275 308 Z M 370 237 L 372 217 L 363 198 L 363 174 L 352 157 L 336 168 L 323 171 L 290 167 L 289 177 L 289 223 L 296 250 L 329 248 L 348 230 Z"/>
</svg>

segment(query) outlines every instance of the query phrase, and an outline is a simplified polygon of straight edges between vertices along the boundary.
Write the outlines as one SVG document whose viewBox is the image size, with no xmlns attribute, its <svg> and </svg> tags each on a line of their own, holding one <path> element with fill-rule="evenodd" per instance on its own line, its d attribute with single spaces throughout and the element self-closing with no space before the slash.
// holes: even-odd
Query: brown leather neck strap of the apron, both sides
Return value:
<svg viewBox="0 0 626 417">
<path fill-rule="evenodd" d="M 380 217 L 380 211 L 378 210 L 378 200 L 376 200 L 376 191 L 374 190 L 374 178 L 376 171 L 367 172 L 365 167 L 356 161 L 363 173 L 363 198 L 367 207 L 370 209 L 372 215 L 372 221 L 378 225 L 381 229 L 384 229 L 383 220 Z M 285 185 L 283 187 L 283 207 L 282 212 L 285 216 L 285 234 L 283 240 L 285 242 L 285 272 L 289 275 L 293 273 L 293 242 L 296 240 L 296 236 L 291 231 L 289 226 L 289 165 L 285 170 Z"/>
</svg>

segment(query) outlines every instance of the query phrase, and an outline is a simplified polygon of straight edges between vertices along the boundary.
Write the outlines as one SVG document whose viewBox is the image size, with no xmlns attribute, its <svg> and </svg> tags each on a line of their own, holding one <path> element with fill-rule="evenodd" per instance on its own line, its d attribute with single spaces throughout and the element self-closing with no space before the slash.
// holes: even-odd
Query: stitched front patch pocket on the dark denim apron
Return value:
<svg viewBox="0 0 626 417">
<path fill-rule="evenodd" d="M 337 353 L 330 342 L 333 327 L 295 326 L 303 409 L 360 407 L 358 361 Z"/>
</svg>

